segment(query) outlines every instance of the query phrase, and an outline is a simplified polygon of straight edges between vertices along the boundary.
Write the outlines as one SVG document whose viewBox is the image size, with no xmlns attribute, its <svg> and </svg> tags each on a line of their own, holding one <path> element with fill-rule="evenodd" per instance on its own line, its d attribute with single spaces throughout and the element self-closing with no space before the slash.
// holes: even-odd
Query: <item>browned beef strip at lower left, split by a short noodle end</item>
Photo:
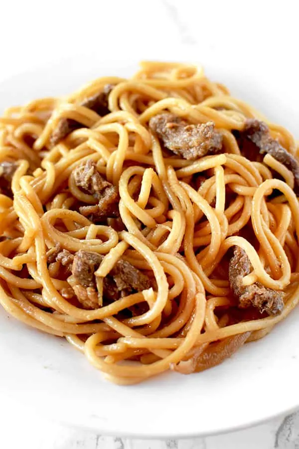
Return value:
<svg viewBox="0 0 299 449">
<path fill-rule="evenodd" d="M 72 276 L 68 279 L 78 300 L 86 309 L 99 307 L 95 271 L 104 256 L 96 252 L 80 250 L 76 252 Z M 150 287 L 149 277 L 135 268 L 130 262 L 119 259 L 103 281 L 103 297 L 108 302 L 116 301 L 135 291 Z"/>
</svg>

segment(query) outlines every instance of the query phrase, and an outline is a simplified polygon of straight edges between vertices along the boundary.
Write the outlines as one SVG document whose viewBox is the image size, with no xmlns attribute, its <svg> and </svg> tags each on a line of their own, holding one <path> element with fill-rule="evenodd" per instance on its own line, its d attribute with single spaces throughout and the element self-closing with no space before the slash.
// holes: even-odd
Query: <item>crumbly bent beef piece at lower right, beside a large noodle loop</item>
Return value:
<svg viewBox="0 0 299 449">
<path fill-rule="evenodd" d="M 255 282 L 245 287 L 243 277 L 250 274 L 252 265 L 244 249 L 234 246 L 234 254 L 229 262 L 229 282 L 234 296 L 239 300 L 240 308 L 256 307 L 260 313 L 279 315 L 284 308 L 280 291 L 272 290 Z"/>
</svg>

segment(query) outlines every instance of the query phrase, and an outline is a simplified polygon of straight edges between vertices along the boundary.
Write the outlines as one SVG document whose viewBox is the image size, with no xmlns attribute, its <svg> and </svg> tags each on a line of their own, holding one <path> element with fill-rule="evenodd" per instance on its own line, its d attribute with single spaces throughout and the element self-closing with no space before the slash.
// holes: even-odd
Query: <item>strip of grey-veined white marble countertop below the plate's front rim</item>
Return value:
<svg viewBox="0 0 299 449">
<path fill-rule="evenodd" d="M 8 407 L 9 409 L 9 407 Z M 5 449 L 298 449 L 299 412 L 251 429 L 187 440 L 135 440 L 70 429 L 17 411 L 0 412 Z"/>
</svg>

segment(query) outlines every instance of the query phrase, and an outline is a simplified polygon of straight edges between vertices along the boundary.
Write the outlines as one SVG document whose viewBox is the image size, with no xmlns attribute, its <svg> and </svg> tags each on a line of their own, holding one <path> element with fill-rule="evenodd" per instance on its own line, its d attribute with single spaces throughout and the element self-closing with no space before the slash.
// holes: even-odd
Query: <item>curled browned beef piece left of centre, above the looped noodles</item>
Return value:
<svg viewBox="0 0 299 449">
<path fill-rule="evenodd" d="M 76 167 L 73 175 L 76 186 L 97 200 L 95 205 L 80 206 L 80 214 L 94 223 L 119 217 L 118 189 L 100 175 L 92 159 Z"/>
</svg>

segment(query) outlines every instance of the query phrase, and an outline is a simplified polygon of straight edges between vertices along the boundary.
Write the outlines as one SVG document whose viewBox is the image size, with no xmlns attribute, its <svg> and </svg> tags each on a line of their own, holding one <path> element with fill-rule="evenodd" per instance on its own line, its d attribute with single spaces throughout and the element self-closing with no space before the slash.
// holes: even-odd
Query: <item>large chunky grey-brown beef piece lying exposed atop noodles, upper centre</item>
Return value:
<svg viewBox="0 0 299 449">
<path fill-rule="evenodd" d="M 221 151 L 222 136 L 215 131 L 215 123 L 193 125 L 174 114 L 165 112 L 151 117 L 149 128 L 168 150 L 184 159 L 198 159 Z"/>
</svg>

